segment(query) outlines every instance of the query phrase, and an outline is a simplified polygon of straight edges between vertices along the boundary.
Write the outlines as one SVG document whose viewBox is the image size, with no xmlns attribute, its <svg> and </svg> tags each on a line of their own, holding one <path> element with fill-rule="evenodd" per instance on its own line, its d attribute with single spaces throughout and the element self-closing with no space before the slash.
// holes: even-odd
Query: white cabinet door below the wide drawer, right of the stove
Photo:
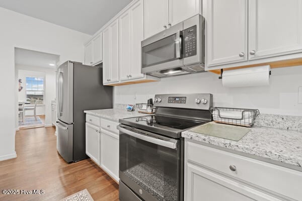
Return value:
<svg viewBox="0 0 302 201">
<path fill-rule="evenodd" d="M 241 183 L 187 163 L 185 200 L 281 201 Z"/>
</svg>

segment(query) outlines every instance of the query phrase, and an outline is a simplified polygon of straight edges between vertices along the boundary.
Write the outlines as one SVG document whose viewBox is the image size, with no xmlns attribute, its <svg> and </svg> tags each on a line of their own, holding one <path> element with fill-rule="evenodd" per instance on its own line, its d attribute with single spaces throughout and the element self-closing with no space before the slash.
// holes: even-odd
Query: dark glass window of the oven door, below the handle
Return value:
<svg viewBox="0 0 302 201">
<path fill-rule="evenodd" d="M 178 200 L 179 158 L 176 149 L 127 134 L 120 135 L 120 174 L 138 184 L 156 200 Z"/>
</svg>

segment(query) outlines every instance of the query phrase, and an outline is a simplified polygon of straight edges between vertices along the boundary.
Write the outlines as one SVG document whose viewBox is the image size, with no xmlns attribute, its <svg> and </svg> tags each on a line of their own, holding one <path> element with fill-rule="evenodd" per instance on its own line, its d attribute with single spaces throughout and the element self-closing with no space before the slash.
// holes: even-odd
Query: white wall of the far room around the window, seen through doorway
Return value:
<svg viewBox="0 0 302 201">
<path fill-rule="evenodd" d="M 55 98 L 55 68 L 43 68 L 17 64 L 16 69 L 19 70 L 18 77 L 19 79 L 22 79 L 23 86 L 22 91 L 17 91 L 18 100 L 26 99 L 25 78 L 27 76 L 44 77 L 44 104 L 43 106 L 37 106 L 37 115 L 45 115 L 45 126 L 51 125 L 51 100 L 54 100 Z"/>
</svg>

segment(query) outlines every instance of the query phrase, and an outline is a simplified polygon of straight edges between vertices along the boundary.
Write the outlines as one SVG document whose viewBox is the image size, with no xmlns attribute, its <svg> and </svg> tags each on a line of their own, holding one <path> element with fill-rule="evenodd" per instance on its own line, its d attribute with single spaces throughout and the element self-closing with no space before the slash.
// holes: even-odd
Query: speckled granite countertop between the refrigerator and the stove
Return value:
<svg viewBox="0 0 302 201">
<path fill-rule="evenodd" d="M 147 115 L 143 113 L 138 113 L 136 111 L 126 111 L 125 109 L 87 110 L 84 111 L 84 113 L 101 117 L 114 122 L 118 122 L 119 119 L 141 117 Z"/>
</svg>

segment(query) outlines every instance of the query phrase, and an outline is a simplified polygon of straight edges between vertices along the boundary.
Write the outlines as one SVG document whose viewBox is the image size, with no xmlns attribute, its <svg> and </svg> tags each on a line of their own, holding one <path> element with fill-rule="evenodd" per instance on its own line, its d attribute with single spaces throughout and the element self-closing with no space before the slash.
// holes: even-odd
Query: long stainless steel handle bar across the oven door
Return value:
<svg viewBox="0 0 302 201">
<path fill-rule="evenodd" d="M 150 136 L 147 136 L 145 134 L 142 134 L 142 133 L 136 133 L 136 132 L 133 132 L 133 131 L 129 131 L 127 129 L 124 129 L 120 126 L 117 126 L 117 129 L 120 130 L 121 132 L 127 134 L 127 135 L 130 135 L 134 138 L 138 138 L 138 139 L 141 139 L 143 141 L 146 141 L 146 142 L 150 142 L 150 143 L 153 143 L 153 144 L 157 144 L 157 145 L 160 145 L 160 146 L 163 146 L 163 147 L 168 147 L 168 148 L 171 148 L 171 149 L 177 149 L 177 140 L 162 140 L 162 139 L 159 139 L 159 138 L 154 138 L 154 137 L 150 137 Z"/>
</svg>

